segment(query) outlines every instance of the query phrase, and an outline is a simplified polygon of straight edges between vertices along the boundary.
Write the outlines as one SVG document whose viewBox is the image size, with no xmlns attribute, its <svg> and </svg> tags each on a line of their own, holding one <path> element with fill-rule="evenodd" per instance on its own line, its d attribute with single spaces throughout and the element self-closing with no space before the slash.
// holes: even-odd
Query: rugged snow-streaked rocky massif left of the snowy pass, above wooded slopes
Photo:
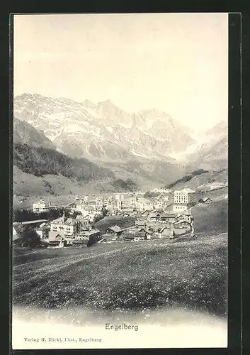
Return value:
<svg viewBox="0 0 250 355">
<path fill-rule="evenodd" d="M 68 155 L 97 161 L 132 158 L 169 160 L 193 143 L 185 127 L 157 110 L 128 114 L 110 101 L 93 104 L 23 94 L 14 99 L 14 114 Z"/>
</svg>

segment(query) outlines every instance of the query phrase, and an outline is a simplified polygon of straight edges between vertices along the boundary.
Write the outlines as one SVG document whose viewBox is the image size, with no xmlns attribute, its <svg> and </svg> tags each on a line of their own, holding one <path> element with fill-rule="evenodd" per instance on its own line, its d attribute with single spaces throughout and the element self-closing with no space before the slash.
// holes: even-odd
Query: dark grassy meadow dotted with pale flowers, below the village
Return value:
<svg viewBox="0 0 250 355">
<path fill-rule="evenodd" d="M 98 244 L 14 256 L 13 303 L 47 309 L 227 309 L 227 237 Z M 80 316 L 81 311 L 79 311 Z"/>
</svg>

